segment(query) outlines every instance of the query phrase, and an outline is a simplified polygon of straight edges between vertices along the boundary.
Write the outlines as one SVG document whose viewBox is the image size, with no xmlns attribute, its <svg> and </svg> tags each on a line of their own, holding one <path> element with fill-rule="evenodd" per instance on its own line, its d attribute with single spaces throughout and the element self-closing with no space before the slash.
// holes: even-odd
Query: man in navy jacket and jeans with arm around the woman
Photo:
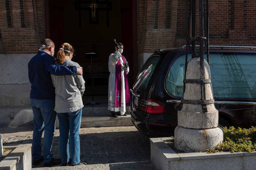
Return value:
<svg viewBox="0 0 256 170">
<path fill-rule="evenodd" d="M 29 81 L 31 83 L 30 105 L 34 114 L 33 132 L 33 165 L 44 161 L 44 167 L 50 167 L 61 163 L 53 158 L 51 152 L 53 136 L 55 133 L 56 112 L 55 89 L 51 79 L 53 75 L 83 75 L 83 68 L 76 66 L 62 66 L 55 64 L 54 43 L 50 39 L 44 39 L 37 53 L 29 61 Z M 42 132 L 44 133 L 43 156 L 41 149 Z"/>
</svg>

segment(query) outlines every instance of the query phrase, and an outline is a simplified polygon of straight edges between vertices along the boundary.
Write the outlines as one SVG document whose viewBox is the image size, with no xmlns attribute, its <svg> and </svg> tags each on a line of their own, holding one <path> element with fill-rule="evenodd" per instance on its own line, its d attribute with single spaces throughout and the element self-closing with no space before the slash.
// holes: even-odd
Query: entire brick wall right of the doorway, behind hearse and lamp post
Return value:
<svg viewBox="0 0 256 170">
<path fill-rule="evenodd" d="M 166 29 L 168 3 L 178 3 L 176 30 Z M 197 5 L 198 7 L 198 2 Z M 186 45 L 186 0 L 138 0 L 139 54 L 153 52 L 157 48 Z M 166 9 L 167 8 L 167 9 Z M 209 1 L 209 45 L 256 46 L 256 3 L 244 0 Z M 198 17 L 198 9 L 196 11 Z M 170 27 L 175 16 L 171 16 Z M 142 20 L 143 19 L 143 20 Z M 157 20 L 158 19 L 158 20 Z M 156 21 L 158 28 L 156 28 Z M 144 23 L 143 23 L 144 22 Z M 144 29 L 142 29 L 142 25 Z M 199 35 L 199 19 L 196 19 L 196 37 Z M 172 35 L 175 34 L 175 38 Z"/>
</svg>

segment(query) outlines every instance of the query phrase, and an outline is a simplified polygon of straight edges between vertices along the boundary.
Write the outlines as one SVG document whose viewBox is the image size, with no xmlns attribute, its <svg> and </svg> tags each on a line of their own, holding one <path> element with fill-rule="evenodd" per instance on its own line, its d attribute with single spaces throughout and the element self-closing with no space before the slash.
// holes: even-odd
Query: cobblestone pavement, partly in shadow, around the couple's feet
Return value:
<svg viewBox="0 0 256 170">
<path fill-rule="evenodd" d="M 6 144 L 32 143 L 33 128 L 1 128 L 0 134 Z M 149 137 L 133 126 L 80 128 L 80 150 L 81 161 L 88 164 L 150 162 Z M 54 158 L 60 158 L 59 129 L 54 135 L 52 152 Z M 43 163 L 32 165 L 32 168 L 38 167 L 43 167 Z"/>
</svg>

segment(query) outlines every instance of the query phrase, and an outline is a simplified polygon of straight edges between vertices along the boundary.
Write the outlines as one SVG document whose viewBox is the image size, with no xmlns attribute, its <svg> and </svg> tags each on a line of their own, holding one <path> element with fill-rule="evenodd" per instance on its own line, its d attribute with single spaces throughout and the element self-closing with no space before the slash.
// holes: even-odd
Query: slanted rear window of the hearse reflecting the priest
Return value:
<svg viewBox="0 0 256 170">
<path fill-rule="evenodd" d="M 151 56 L 148 58 L 146 63 L 143 65 L 143 67 L 140 69 L 140 73 L 138 77 L 136 78 L 133 86 L 133 90 L 145 90 L 148 81 L 152 75 L 152 72 L 154 72 L 154 69 L 160 59 L 160 56 Z"/>
</svg>

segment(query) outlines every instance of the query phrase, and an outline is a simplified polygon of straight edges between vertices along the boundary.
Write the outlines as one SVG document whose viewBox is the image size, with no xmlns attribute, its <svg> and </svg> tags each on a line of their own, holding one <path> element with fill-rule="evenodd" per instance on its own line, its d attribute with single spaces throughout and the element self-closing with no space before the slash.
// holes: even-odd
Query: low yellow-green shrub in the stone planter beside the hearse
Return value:
<svg viewBox="0 0 256 170">
<path fill-rule="evenodd" d="M 215 153 L 219 151 L 234 152 L 252 152 L 256 150 L 256 127 L 249 129 L 237 129 L 232 127 L 222 128 L 224 139 L 213 149 L 206 149 L 207 153 Z"/>
</svg>

